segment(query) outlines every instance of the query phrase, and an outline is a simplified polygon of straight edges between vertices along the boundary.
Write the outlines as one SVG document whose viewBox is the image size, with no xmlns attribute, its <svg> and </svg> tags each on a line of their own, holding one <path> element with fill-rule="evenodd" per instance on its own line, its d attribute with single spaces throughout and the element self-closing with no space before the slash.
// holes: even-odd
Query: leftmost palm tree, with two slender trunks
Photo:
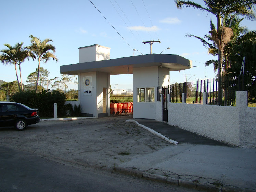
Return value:
<svg viewBox="0 0 256 192">
<path fill-rule="evenodd" d="M 15 44 L 13 47 L 10 44 L 4 44 L 4 46 L 8 47 L 9 49 L 3 49 L 1 50 L 2 54 L 0 55 L 0 60 L 3 64 L 13 64 L 15 66 L 17 81 L 19 90 L 24 91 L 23 84 L 22 84 L 22 76 L 21 76 L 21 63 L 25 61 L 26 58 L 28 58 L 28 51 L 22 48 L 23 42 Z M 17 65 L 19 66 L 20 71 L 20 78 L 21 78 L 21 87 L 20 82 L 18 78 L 18 72 L 17 72 Z"/>
</svg>

